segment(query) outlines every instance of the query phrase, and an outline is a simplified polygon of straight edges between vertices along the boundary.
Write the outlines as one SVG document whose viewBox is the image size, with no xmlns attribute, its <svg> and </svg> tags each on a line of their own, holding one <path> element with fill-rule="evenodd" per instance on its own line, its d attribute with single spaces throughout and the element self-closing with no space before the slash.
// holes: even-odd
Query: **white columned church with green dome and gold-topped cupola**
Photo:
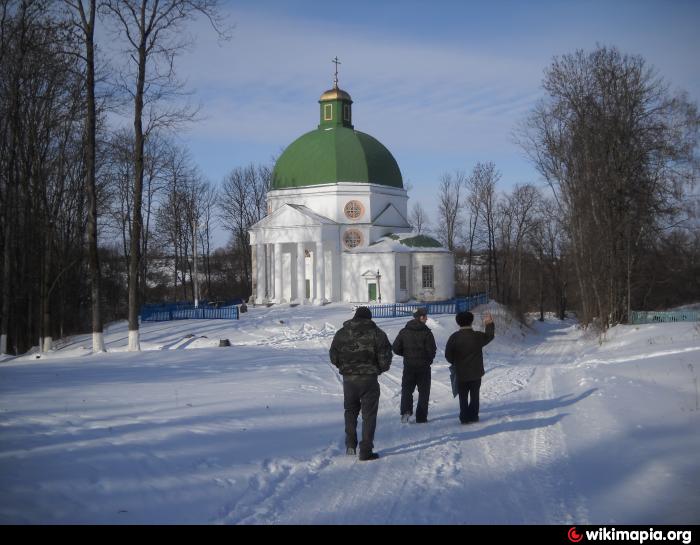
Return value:
<svg viewBox="0 0 700 545">
<path fill-rule="evenodd" d="M 337 59 L 336 59 L 337 60 Z M 336 63 L 337 68 L 337 63 Z M 268 213 L 249 229 L 255 304 L 454 297 L 454 255 L 408 224 L 389 150 L 355 130 L 350 95 L 321 95 L 318 127 L 275 164 Z"/>
</svg>

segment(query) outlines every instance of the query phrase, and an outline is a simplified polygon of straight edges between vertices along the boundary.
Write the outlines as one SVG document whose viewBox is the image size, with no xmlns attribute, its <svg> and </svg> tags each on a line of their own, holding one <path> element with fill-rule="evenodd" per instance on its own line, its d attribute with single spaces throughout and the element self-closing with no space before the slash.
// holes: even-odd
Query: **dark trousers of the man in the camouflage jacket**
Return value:
<svg viewBox="0 0 700 545">
<path fill-rule="evenodd" d="M 362 411 L 360 455 L 372 452 L 379 409 L 379 381 L 376 375 L 343 377 L 345 398 L 345 446 L 357 447 L 357 417 Z"/>
</svg>

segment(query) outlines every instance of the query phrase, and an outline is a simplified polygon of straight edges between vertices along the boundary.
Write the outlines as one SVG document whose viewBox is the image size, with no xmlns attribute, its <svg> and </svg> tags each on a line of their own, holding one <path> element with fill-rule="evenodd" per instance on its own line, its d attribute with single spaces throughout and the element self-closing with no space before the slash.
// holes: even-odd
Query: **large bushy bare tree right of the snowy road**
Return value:
<svg viewBox="0 0 700 545">
<path fill-rule="evenodd" d="M 676 222 L 697 172 L 697 106 L 639 56 L 598 47 L 555 58 L 520 131 L 565 217 L 581 319 L 629 314 L 637 264 Z"/>
</svg>

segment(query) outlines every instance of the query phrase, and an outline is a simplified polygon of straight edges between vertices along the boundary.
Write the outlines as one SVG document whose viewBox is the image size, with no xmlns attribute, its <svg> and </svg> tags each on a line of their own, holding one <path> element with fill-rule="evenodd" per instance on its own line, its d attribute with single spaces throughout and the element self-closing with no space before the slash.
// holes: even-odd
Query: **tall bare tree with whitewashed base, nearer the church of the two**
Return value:
<svg viewBox="0 0 700 545">
<path fill-rule="evenodd" d="M 216 0 L 105 0 L 104 9 L 120 26 L 133 62 L 127 85 L 134 104 L 134 201 L 129 263 L 129 350 L 139 343 L 139 265 L 141 260 L 142 191 L 144 178 L 144 106 L 150 105 L 147 129 L 191 119 L 188 111 L 157 109 L 159 101 L 181 86 L 174 73 L 175 57 L 187 45 L 183 32 L 198 15 L 209 19 L 219 35 L 221 22 Z"/>
</svg>

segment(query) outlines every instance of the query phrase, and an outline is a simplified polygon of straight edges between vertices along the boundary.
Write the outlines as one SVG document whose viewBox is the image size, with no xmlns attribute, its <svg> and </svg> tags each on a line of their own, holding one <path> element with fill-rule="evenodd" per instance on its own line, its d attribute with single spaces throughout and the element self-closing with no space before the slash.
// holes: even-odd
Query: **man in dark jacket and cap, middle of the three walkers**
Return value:
<svg viewBox="0 0 700 545">
<path fill-rule="evenodd" d="M 428 312 L 419 308 L 413 313 L 413 320 L 406 324 L 394 340 L 394 353 L 403 356 L 403 376 L 401 377 L 401 422 L 408 422 L 413 414 L 413 392 L 418 387 L 416 423 L 428 421 L 428 401 L 430 400 L 430 365 L 435 359 L 437 346 L 433 332 L 426 325 Z"/>
</svg>

